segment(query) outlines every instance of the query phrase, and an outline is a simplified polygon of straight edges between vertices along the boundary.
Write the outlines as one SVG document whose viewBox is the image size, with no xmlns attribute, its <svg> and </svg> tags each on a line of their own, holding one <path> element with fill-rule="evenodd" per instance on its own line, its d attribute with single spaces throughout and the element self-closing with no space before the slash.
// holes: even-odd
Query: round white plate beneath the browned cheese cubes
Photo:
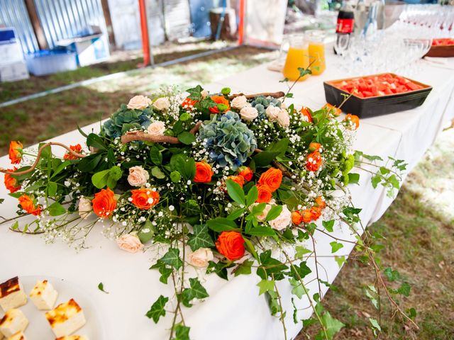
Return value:
<svg viewBox="0 0 454 340">
<path fill-rule="evenodd" d="M 0 283 L 6 280 L 9 280 L 9 278 L 2 279 Z M 27 304 L 19 307 L 19 309 L 22 310 L 30 322 L 24 332 L 28 340 L 55 340 L 55 335 L 50 329 L 48 320 L 45 318 L 46 311 L 38 310 L 30 300 L 30 297 L 28 297 L 38 280 L 48 280 L 57 290 L 58 297 L 55 306 L 73 298 L 84 311 L 87 323 L 84 327 L 75 331 L 74 334 L 87 336 L 89 340 L 105 339 L 102 323 L 96 313 L 96 306 L 92 302 L 93 299 L 79 286 L 62 278 L 52 278 L 52 276 L 19 276 L 19 281 L 22 283 L 27 295 Z"/>
</svg>

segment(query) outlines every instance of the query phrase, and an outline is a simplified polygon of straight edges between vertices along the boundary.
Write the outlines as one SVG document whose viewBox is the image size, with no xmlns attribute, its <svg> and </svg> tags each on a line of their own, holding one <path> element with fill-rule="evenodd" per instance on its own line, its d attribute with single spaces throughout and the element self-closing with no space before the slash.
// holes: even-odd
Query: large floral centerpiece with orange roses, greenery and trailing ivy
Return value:
<svg viewBox="0 0 454 340">
<path fill-rule="evenodd" d="M 358 117 L 339 120 L 340 110 L 331 106 L 287 106 L 291 94 L 283 92 L 245 96 L 226 88 L 208 94 L 196 86 L 187 93 L 135 96 L 99 133 L 79 129 L 87 147 L 46 143 L 31 162 L 23 160 L 21 143 L 11 142 L 17 167 L 1 169 L 4 183 L 18 198 L 18 216 L 36 217 L 11 229 L 82 249 L 89 232 L 102 228 L 126 251 L 164 248 L 152 268 L 162 283 L 171 281 L 175 295 L 161 295 L 146 314 L 158 322 L 174 301 L 170 339 L 189 339 L 184 308 L 208 297 L 189 267 L 224 279 L 254 272 L 258 293 L 267 296 L 286 337 L 275 283 L 288 280 L 314 310 L 304 325 L 316 320 L 317 339 L 332 339 L 343 324 L 323 310 L 321 292 L 304 284 L 311 272 L 306 260 L 316 254 L 305 243 L 317 231 L 331 234 L 338 220 L 356 232 L 360 209 L 351 205 L 347 185 L 358 183 L 355 164 L 380 158 L 352 149 Z M 55 157 L 51 145 L 65 147 L 65 157 Z M 404 169 L 402 161 L 392 162 Z M 399 188 L 398 174 L 385 167 L 372 182 Z M 331 246 L 335 253 L 343 245 L 333 236 Z M 359 236 L 358 247 L 381 277 L 377 249 Z"/>
</svg>

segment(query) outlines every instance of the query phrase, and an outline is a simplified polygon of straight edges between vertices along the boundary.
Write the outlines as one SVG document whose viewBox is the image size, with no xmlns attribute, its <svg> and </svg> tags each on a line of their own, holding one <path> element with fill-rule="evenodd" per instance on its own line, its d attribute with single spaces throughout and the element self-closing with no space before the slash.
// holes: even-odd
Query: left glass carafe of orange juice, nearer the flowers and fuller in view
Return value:
<svg viewBox="0 0 454 340">
<path fill-rule="evenodd" d="M 307 43 L 302 36 L 292 38 L 282 74 L 289 80 L 295 81 L 298 79 L 301 81 L 309 77 L 309 74 L 299 78 L 299 68 L 306 69 L 308 66 L 309 50 Z"/>
</svg>

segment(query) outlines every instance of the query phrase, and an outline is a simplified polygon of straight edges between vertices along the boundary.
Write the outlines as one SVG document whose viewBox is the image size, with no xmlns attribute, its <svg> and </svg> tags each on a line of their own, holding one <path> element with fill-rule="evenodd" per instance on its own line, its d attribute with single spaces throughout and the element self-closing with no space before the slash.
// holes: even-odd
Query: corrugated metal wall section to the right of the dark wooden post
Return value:
<svg viewBox="0 0 454 340">
<path fill-rule="evenodd" d="M 35 0 L 35 6 L 50 48 L 58 40 L 87 33 L 92 25 L 106 32 L 100 0 Z"/>
</svg>

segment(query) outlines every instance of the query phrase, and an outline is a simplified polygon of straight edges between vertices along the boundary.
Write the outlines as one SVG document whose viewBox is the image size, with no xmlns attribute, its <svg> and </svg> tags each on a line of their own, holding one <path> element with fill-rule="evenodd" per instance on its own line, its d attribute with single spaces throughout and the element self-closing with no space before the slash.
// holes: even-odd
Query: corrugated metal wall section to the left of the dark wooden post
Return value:
<svg viewBox="0 0 454 340">
<path fill-rule="evenodd" d="M 0 0 L 0 25 L 16 29 L 24 53 L 39 50 L 38 41 L 31 26 L 23 0 Z"/>
</svg>

